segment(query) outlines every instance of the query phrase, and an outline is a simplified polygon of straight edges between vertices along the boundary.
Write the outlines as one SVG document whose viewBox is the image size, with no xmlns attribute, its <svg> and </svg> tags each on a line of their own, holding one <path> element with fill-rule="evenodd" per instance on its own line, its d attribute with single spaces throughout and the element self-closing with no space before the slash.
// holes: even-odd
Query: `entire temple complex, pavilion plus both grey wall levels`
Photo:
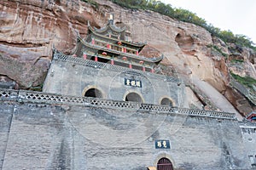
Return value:
<svg viewBox="0 0 256 170">
<path fill-rule="evenodd" d="M 54 48 L 43 92 L 0 89 L 0 169 L 256 167 L 255 113 L 187 108 L 184 83 L 114 25 Z"/>
</svg>

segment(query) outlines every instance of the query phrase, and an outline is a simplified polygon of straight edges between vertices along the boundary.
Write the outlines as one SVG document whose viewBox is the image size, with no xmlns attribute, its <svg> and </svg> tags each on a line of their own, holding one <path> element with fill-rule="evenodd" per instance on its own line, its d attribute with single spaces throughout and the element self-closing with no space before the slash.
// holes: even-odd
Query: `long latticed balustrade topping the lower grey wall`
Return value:
<svg viewBox="0 0 256 170">
<path fill-rule="evenodd" d="M 185 108 L 169 107 L 166 105 L 149 105 L 136 102 L 115 101 L 99 98 L 86 98 L 74 96 L 62 96 L 57 94 L 45 94 L 42 92 L 26 90 L 0 89 L 0 101 L 28 102 L 50 105 L 84 105 L 100 108 L 125 109 L 130 111 L 149 111 L 150 113 L 177 114 L 183 116 L 204 116 L 218 119 L 236 119 L 235 113 L 218 111 L 201 111 Z"/>
</svg>

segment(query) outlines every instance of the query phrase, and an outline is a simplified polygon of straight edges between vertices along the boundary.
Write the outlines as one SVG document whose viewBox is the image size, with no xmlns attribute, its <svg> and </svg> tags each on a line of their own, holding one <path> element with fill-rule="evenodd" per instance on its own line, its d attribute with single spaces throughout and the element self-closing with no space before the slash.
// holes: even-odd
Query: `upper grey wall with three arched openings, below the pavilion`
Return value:
<svg viewBox="0 0 256 170">
<path fill-rule="evenodd" d="M 127 86 L 125 79 L 139 81 L 141 87 Z M 184 102 L 184 84 L 177 77 L 62 54 L 55 55 L 44 82 L 44 92 L 84 96 L 90 88 L 100 90 L 104 99 L 122 101 L 125 100 L 125 95 L 137 93 L 142 97 L 143 103 L 160 105 L 161 99 L 167 98 L 174 106 L 188 107 Z"/>
</svg>

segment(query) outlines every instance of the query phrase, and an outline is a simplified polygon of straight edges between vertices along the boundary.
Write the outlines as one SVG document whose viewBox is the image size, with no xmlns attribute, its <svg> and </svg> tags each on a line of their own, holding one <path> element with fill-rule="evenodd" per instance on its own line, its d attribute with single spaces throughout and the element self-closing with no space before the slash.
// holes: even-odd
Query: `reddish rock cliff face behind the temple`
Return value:
<svg viewBox="0 0 256 170">
<path fill-rule="evenodd" d="M 200 26 L 151 12 L 98 6 L 76 0 L 2 0 L 0 2 L 0 82 L 7 88 L 36 88 L 44 82 L 53 44 L 72 54 L 76 31 L 86 36 L 87 21 L 101 27 L 110 13 L 126 26 L 133 42 L 147 42 L 147 57 L 164 54 L 163 71 L 172 67 L 187 84 L 189 107 L 240 112 L 255 110 L 255 88 L 242 94 L 230 71 L 256 78 L 253 50 L 225 44 Z M 240 61 L 240 62 L 233 62 Z M 234 83 L 233 83 L 234 84 Z M 255 87 L 255 86 L 254 86 Z M 246 97 L 247 96 L 247 97 Z M 253 100 L 254 99 L 254 100 Z"/>
</svg>

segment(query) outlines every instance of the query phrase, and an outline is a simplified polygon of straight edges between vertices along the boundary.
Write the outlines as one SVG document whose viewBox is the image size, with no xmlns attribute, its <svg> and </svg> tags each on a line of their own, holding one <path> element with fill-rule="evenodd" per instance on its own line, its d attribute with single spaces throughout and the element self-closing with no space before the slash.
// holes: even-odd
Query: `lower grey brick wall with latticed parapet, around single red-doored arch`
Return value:
<svg viewBox="0 0 256 170">
<path fill-rule="evenodd" d="M 146 170 L 161 157 L 175 169 L 252 168 L 234 114 L 28 91 L 0 99 L 3 170 Z"/>
</svg>

